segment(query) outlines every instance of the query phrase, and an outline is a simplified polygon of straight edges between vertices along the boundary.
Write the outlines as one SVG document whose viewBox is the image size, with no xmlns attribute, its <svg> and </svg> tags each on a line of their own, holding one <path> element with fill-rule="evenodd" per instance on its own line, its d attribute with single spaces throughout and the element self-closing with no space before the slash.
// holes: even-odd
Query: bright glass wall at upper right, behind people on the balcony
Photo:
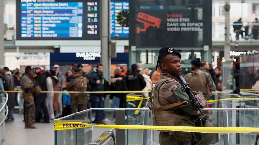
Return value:
<svg viewBox="0 0 259 145">
<path fill-rule="evenodd" d="M 225 2 L 212 1 L 212 41 L 224 41 Z M 233 41 L 258 40 L 259 3 L 253 0 L 230 1 L 230 34 Z M 241 18 L 241 19 L 240 19 Z M 240 20 L 239 20 L 240 19 Z"/>
</svg>

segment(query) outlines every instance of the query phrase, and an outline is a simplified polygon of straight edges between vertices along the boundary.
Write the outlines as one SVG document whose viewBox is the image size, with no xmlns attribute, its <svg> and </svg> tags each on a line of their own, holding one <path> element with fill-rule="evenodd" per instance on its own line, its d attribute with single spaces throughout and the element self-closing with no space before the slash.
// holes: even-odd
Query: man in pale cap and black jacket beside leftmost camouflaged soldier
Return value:
<svg viewBox="0 0 259 145">
<path fill-rule="evenodd" d="M 37 77 L 36 83 L 41 87 L 41 91 L 47 91 L 47 73 L 43 70 L 43 68 L 39 65 L 35 68 Z M 44 123 L 49 123 L 49 112 L 46 106 L 46 97 L 47 93 L 40 93 L 39 95 L 35 96 L 35 121 L 41 121 L 41 108 L 43 109 L 44 113 Z"/>
</svg>

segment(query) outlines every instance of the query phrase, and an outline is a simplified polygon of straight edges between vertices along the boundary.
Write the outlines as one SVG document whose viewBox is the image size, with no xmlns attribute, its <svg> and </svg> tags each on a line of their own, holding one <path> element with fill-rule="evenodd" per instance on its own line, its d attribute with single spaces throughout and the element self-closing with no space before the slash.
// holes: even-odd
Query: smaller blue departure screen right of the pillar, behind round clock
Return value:
<svg viewBox="0 0 259 145">
<path fill-rule="evenodd" d="M 115 35 L 119 38 L 129 37 L 129 27 L 123 27 L 117 22 L 117 14 L 122 10 L 129 10 L 128 1 L 111 1 L 111 38 L 115 38 Z"/>
</svg>

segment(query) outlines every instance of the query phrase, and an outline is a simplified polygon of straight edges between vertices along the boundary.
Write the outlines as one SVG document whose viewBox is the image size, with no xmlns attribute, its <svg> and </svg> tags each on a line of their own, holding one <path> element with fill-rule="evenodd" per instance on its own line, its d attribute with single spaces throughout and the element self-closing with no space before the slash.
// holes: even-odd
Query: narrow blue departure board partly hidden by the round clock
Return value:
<svg viewBox="0 0 259 145">
<path fill-rule="evenodd" d="M 110 26 L 111 26 L 111 38 L 125 39 L 129 37 L 129 27 L 122 26 L 118 23 L 118 14 L 122 13 L 120 21 L 129 22 L 129 17 L 125 11 L 129 11 L 129 1 L 128 0 L 112 0 L 111 1 L 111 17 L 110 17 Z"/>
</svg>

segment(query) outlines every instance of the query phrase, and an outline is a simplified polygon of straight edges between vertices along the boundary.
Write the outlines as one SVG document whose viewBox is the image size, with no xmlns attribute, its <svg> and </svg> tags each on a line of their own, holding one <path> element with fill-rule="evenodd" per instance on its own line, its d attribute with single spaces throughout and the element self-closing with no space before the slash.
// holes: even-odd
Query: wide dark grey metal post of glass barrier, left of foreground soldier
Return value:
<svg viewBox="0 0 259 145">
<path fill-rule="evenodd" d="M 115 110 L 115 124 L 125 125 L 125 110 Z M 115 129 L 116 144 L 125 145 L 126 136 L 125 129 Z"/>
</svg>

